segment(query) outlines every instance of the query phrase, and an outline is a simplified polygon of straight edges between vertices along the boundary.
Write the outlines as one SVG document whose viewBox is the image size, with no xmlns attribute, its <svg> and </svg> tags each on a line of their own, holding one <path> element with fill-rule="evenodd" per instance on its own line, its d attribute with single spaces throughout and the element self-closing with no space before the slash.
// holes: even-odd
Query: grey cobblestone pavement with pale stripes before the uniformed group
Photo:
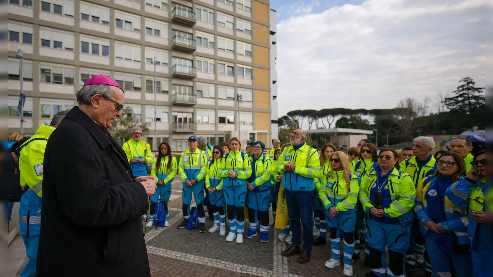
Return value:
<svg viewBox="0 0 493 277">
<path fill-rule="evenodd" d="M 243 244 L 226 242 L 219 233 L 201 234 L 198 230 L 177 229 L 182 219 L 182 184 L 176 177 L 169 202 L 170 226 L 147 228 L 146 243 L 152 277 L 343 277 L 343 265 L 330 270 L 323 265 L 330 258 L 329 243 L 314 246 L 312 260 L 304 265 L 295 257 L 282 257 L 288 245 L 277 240 L 279 230 L 269 230 L 269 242 L 261 243 L 260 236 L 244 239 Z M 207 215 L 207 214 L 206 214 Z M 271 217 L 272 218 L 272 217 Z M 207 217 L 206 228 L 212 226 Z M 248 223 L 246 223 L 246 230 Z M 363 277 L 369 268 L 361 260 L 353 264 L 355 277 Z M 423 271 L 408 277 L 424 277 Z"/>
</svg>

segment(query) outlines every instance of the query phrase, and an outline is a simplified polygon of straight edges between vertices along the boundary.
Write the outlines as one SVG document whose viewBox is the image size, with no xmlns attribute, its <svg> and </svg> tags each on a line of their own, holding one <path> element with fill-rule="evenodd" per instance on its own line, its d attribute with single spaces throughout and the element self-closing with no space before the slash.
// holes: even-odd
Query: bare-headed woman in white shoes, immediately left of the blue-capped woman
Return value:
<svg viewBox="0 0 493 277">
<path fill-rule="evenodd" d="M 246 180 L 251 175 L 251 162 L 248 156 L 241 151 L 239 138 L 229 140 L 230 151 L 224 156 L 224 168 L 221 171 L 224 199 L 228 212 L 229 234 L 226 242 L 243 243 L 245 228 L 245 197 Z"/>
</svg>

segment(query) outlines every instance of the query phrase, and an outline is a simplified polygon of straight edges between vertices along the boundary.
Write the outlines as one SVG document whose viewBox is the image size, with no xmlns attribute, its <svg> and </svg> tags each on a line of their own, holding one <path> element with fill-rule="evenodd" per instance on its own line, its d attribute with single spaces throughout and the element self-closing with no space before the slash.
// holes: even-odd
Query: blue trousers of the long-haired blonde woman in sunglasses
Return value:
<svg viewBox="0 0 493 277">
<path fill-rule="evenodd" d="M 356 213 L 338 213 L 330 218 L 329 210 L 325 209 L 327 226 L 330 228 L 330 248 L 332 249 L 331 258 L 339 260 L 341 258 L 341 237 L 344 241 L 344 264 L 352 265 L 352 254 L 354 253 L 354 225 L 356 224 Z M 341 236 L 342 235 L 342 236 Z"/>
</svg>

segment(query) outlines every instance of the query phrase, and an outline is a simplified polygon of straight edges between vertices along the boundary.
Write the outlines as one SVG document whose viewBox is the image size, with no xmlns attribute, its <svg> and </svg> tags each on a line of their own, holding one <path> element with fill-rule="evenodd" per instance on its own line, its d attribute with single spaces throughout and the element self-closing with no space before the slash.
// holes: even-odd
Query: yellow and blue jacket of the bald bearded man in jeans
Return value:
<svg viewBox="0 0 493 277">
<path fill-rule="evenodd" d="M 277 171 L 284 173 L 282 186 L 290 191 L 313 191 L 315 190 L 315 179 L 320 176 L 320 160 L 317 149 L 306 143 L 294 149 L 291 145 L 286 147 L 279 156 Z M 294 171 L 285 172 L 284 164 L 293 162 Z"/>
</svg>

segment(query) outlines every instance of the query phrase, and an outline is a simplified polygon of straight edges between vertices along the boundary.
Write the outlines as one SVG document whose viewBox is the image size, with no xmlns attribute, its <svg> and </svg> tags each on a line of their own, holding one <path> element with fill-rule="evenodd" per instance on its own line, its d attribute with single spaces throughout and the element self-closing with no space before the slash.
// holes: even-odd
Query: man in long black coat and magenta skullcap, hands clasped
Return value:
<svg viewBox="0 0 493 277">
<path fill-rule="evenodd" d="M 135 178 L 106 131 L 121 116 L 124 91 L 89 79 L 53 132 L 44 155 L 37 277 L 149 277 L 141 215 L 155 177 Z"/>
</svg>

